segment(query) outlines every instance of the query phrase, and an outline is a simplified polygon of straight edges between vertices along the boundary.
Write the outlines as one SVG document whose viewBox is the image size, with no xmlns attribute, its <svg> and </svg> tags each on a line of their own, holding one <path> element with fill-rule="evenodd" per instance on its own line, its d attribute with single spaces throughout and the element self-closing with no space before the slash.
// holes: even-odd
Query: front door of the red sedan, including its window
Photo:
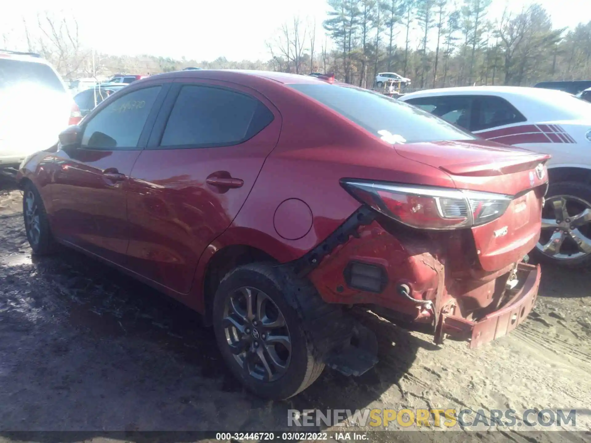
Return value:
<svg viewBox="0 0 591 443">
<path fill-rule="evenodd" d="M 53 163 L 54 232 L 121 265 L 129 241 L 125 189 L 161 89 L 130 90 L 90 115 L 80 145 L 59 149 Z"/>
</svg>

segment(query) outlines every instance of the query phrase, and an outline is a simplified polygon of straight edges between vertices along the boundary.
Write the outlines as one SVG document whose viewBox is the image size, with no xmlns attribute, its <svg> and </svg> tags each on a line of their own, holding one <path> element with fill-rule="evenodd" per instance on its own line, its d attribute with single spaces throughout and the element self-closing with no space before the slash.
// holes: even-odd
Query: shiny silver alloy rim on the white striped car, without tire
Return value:
<svg viewBox="0 0 591 443">
<path fill-rule="evenodd" d="M 574 196 L 547 198 L 537 249 L 557 260 L 591 254 L 591 204 Z"/>
</svg>

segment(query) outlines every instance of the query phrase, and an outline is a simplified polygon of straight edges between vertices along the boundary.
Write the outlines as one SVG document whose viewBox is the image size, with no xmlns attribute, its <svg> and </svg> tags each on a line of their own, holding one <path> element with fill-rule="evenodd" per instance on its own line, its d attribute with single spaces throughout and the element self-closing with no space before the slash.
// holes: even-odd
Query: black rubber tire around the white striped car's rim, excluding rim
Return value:
<svg viewBox="0 0 591 443">
<path fill-rule="evenodd" d="M 557 216 L 553 219 L 551 216 L 555 215 L 553 202 L 558 198 L 564 198 L 566 201 L 567 214 L 572 217 L 576 217 L 578 213 L 585 209 L 591 210 L 591 186 L 584 183 L 577 183 L 571 181 L 563 181 L 558 183 L 550 183 L 548 192 L 546 193 L 545 199 L 546 204 L 542 213 L 542 218 L 545 220 L 552 220 L 556 222 Z M 563 217 L 564 220 L 569 220 Z M 591 265 L 591 252 L 584 253 L 582 250 L 577 249 L 577 244 L 571 237 L 573 232 L 570 229 L 569 223 L 556 223 L 556 227 L 547 227 L 542 229 L 540 235 L 540 242 L 532 250 L 531 255 L 535 262 L 546 263 L 554 266 L 564 266 L 567 268 L 580 268 L 583 266 Z M 576 228 L 580 234 L 590 240 L 591 243 L 591 223 L 585 223 L 582 226 Z M 559 236 L 560 232 L 564 233 L 564 240 L 560 243 L 558 253 L 551 255 L 550 253 L 544 253 L 542 248 L 544 244 L 550 241 L 550 235 L 557 233 Z M 586 246 L 585 246 L 586 248 Z M 577 252 L 578 250 L 578 252 Z"/>
</svg>

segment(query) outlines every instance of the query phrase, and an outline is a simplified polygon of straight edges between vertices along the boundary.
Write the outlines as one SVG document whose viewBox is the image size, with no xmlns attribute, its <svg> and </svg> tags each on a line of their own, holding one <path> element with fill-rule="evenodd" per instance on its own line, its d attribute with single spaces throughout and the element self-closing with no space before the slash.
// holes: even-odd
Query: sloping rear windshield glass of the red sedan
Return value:
<svg viewBox="0 0 591 443">
<path fill-rule="evenodd" d="M 476 139 L 424 110 L 366 89 L 336 84 L 290 86 L 392 143 Z"/>
</svg>

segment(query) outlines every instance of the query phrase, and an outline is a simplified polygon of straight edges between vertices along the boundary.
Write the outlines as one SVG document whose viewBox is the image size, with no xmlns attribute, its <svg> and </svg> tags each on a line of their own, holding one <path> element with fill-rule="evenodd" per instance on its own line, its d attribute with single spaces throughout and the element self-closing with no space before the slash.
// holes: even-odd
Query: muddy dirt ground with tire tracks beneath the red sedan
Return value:
<svg viewBox="0 0 591 443">
<path fill-rule="evenodd" d="M 199 315 L 78 253 L 31 257 L 21 208 L 20 191 L 2 180 L 0 441 L 22 439 L 8 431 L 89 431 L 86 439 L 95 441 L 107 438 L 105 431 L 293 431 L 287 409 L 362 408 L 576 408 L 577 432 L 439 434 L 457 441 L 591 439 L 591 271 L 543 269 L 528 321 L 476 350 L 453 341 L 435 346 L 428 335 L 359 314 L 379 337 L 374 369 L 359 378 L 325 370 L 295 398 L 267 402 L 225 369 Z"/>
</svg>

